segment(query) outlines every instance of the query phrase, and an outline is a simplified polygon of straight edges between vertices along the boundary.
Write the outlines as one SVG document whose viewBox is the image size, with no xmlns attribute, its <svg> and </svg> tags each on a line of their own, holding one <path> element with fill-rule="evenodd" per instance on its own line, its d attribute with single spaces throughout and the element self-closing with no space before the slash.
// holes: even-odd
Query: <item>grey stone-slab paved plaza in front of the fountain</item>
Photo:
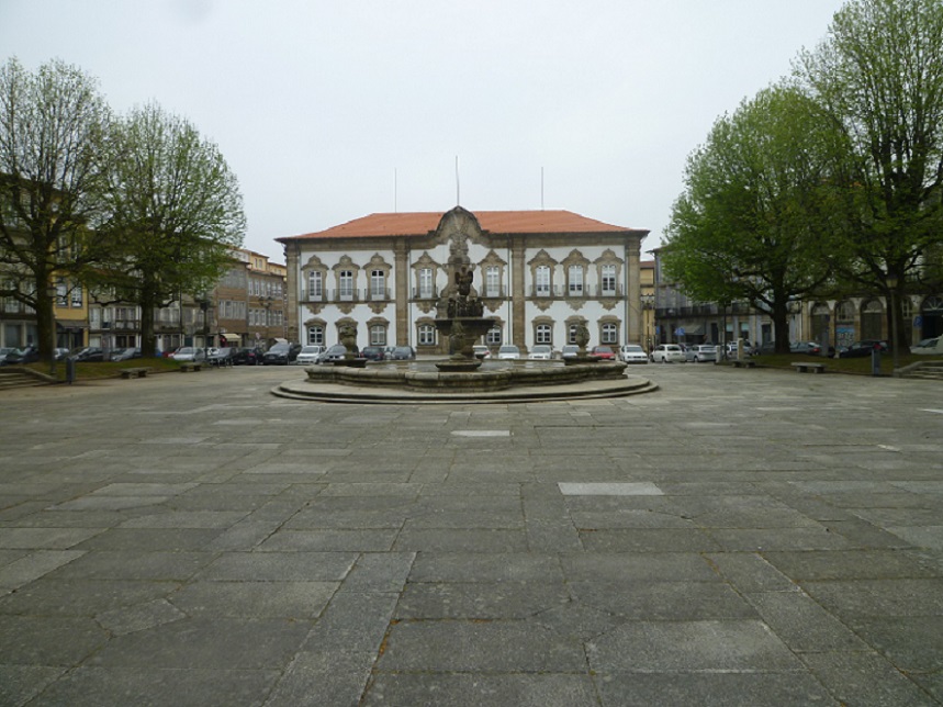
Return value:
<svg viewBox="0 0 943 707">
<path fill-rule="evenodd" d="M 943 386 L 0 394 L 0 705 L 943 704 Z"/>
</svg>

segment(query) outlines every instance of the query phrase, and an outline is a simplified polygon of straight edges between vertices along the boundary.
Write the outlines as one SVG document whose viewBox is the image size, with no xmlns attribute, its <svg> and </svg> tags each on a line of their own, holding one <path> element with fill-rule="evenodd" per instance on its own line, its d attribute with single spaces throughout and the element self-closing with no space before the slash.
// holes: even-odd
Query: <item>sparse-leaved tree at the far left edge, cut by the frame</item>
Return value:
<svg viewBox="0 0 943 707">
<path fill-rule="evenodd" d="M 36 312 L 43 358 L 53 356 L 58 278 L 80 278 L 108 252 L 101 218 L 110 111 L 97 82 L 54 60 L 30 72 L 0 67 L 0 296 Z"/>
</svg>

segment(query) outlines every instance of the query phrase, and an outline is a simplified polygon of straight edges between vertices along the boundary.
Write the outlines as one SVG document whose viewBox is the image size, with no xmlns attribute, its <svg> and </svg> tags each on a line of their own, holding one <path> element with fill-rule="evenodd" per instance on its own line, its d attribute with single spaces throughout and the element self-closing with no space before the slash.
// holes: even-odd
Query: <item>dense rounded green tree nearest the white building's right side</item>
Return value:
<svg viewBox="0 0 943 707">
<path fill-rule="evenodd" d="M 841 135 L 795 88 L 776 86 L 719 119 L 688 158 L 662 256 L 691 296 L 749 302 L 788 352 L 789 303 L 829 278 L 823 234 Z"/>
</svg>

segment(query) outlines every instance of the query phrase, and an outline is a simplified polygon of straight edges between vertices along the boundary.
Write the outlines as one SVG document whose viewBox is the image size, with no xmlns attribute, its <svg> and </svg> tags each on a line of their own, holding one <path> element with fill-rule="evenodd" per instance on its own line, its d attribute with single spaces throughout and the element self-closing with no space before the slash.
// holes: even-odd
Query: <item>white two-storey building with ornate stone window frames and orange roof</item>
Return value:
<svg viewBox="0 0 943 707">
<path fill-rule="evenodd" d="M 473 293 L 497 324 L 496 348 L 572 343 L 577 324 L 591 345 L 642 340 L 639 252 L 648 231 L 566 211 L 372 214 L 327 231 L 279 238 L 288 280 L 288 337 L 337 343 L 353 324 L 358 346 L 412 346 L 444 354 L 436 303 L 449 285 L 449 239 L 460 233 L 475 265 Z"/>
</svg>

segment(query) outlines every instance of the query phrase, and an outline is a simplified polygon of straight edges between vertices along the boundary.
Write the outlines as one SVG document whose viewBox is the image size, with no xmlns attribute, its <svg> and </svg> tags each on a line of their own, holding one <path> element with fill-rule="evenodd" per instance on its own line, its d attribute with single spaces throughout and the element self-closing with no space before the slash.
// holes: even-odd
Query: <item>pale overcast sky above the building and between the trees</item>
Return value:
<svg viewBox="0 0 943 707">
<path fill-rule="evenodd" d="M 273 238 L 456 203 L 645 228 L 649 250 L 714 121 L 842 4 L 0 0 L 0 52 L 190 120 L 239 179 L 245 245 L 278 261 Z"/>
</svg>

